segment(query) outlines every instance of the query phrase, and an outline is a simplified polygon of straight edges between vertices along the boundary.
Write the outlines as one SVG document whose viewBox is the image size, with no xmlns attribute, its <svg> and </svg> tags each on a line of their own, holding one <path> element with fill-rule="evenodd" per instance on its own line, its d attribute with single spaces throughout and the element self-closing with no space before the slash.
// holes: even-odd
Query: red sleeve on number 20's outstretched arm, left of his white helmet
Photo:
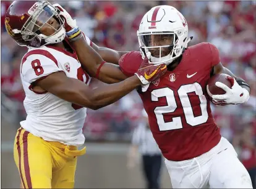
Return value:
<svg viewBox="0 0 256 189">
<path fill-rule="evenodd" d="M 127 77 L 134 76 L 136 71 L 140 68 L 143 59 L 139 51 L 127 52 L 122 55 L 118 64 L 121 68 L 122 73 Z"/>
</svg>

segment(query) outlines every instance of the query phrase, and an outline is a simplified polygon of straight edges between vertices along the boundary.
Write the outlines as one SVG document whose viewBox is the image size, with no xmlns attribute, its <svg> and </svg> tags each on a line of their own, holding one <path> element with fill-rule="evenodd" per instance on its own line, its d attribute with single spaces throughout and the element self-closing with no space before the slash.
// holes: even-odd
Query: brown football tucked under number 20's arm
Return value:
<svg viewBox="0 0 256 189">
<path fill-rule="evenodd" d="M 226 76 L 229 76 L 228 74 L 215 74 L 214 76 L 212 76 L 208 83 L 207 83 L 207 94 L 210 97 L 210 100 L 212 95 L 219 95 L 219 94 L 225 94 L 226 91 L 221 89 L 220 87 L 215 86 L 215 83 L 217 81 L 222 82 L 223 84 L 225 84 L 226 86 L 228 86 L 229 88 L 231 88 L 231 83 L 228 81 L 228 79 L 226 78 Z"/>
</svg>

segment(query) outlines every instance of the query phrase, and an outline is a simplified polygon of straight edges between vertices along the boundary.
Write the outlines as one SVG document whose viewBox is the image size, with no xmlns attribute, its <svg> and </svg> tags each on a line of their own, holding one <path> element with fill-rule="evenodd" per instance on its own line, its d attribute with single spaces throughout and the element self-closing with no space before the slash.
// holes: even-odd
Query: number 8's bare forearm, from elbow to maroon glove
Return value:
<svg viewBox="0 0 256 189">
<path fill-rule="evenodd" d="M 95 109 L 102 108 L 129 94 L 140 84 L 140 79 L 137 76 L 132 76 L 122 82 L 94 89 L 91 100 L 95 105 Z"/>
</svg>

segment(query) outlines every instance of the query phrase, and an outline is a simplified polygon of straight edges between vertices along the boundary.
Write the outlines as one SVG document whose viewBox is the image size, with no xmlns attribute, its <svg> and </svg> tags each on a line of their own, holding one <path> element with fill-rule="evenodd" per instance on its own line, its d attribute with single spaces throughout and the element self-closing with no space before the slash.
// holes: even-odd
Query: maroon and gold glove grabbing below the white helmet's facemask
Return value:
<svg viewBox="0 0 256 189">
<path fill-rule="evenodd" d="M 148 52 L 140 65 L 139 70 L 135 73 L 142 84 L 148 84 L 149 82 L 155 81 L 167 71 L 167 66 L 164 63 L 160 65 L 148 63 L 148 57 L 150 57 L 150 55 L 151 53 Z"/>
</svg>

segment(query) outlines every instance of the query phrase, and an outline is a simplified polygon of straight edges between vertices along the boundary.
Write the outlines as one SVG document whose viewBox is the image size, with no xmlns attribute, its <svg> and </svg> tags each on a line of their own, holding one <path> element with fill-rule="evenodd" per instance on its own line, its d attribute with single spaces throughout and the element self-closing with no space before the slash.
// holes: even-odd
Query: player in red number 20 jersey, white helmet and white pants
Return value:
<svg viewBox="0 0 256 189">
<path fill-rule="evenodd" d="M 220 135 L 211 115 L 207 82 L 211 76 L 226 73 L 233 87 L 216 82 L 226 94 L 213 95 L 218 105 L 244 103 L 250 87 L 220 62 L 218 49 L 208 42 L 187 47 L 188 26 L 174 7 L 153 7 L 142 18 L 137 32 L 140 52 L 123 55 L 119 66 L 133 76 L 146 56 L 153 65 L 165 63 L 168 71 L 157 81 L 143 86 L 140 97 L 147 111 L 150 129 L 165 158 L 173 188 L 252 188 L 245 167 L 231 143 Z M 85 40 L 73 42 L 80 62 L 102 78 L 102 69 L 84 60 Z M 98 50 L 106 60 L 106 53 Z M 112 52 L 109 52 L 111 55 Z M 117 67 L 112 77 L 122 75 Z M 109 81 L 112 82 L 112 81 Z"/>
</svg>

